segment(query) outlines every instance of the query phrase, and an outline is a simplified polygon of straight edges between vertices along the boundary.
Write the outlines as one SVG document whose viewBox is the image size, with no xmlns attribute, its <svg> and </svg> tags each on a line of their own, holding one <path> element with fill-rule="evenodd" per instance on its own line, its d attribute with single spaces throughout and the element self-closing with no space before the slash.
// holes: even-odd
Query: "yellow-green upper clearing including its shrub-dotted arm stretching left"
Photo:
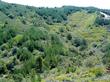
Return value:
<svg viewBox="0 0 110 82">
<path fill-rule="evenodd" d="M 69 15 L 67 22 L 64 24 L 55 23 L 54 25 L 49 25 L 49 32 L 60 36 L 65 49 L 73 47 L 71 41 L 67 40 L 69 34 L 73 38 L 79 37 L 85 39 L 90 45 L 94 42 L 100 44 L 100 41 L 103 42 L 107 39 L 106 35 L 108 32 L 104 26 L 95 25 L 97 16 L 97 13 L 76 12 Z"/>
</svg>

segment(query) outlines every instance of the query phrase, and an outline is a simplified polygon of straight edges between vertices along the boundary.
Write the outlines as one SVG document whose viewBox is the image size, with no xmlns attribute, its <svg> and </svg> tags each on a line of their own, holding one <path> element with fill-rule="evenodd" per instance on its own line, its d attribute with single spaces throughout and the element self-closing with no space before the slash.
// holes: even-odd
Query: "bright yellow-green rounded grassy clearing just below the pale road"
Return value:
<svg viewBox="0 0 110 82">
<path fill-rule="evenodd" d="M 86 12 L 77 12 L 69 16 L 69 25 L 76 35 L 79 35 L 88 41 L 99 41 L 106 35 L 106 29 L 102 26 L 96 27 L 96 13 L 88 14 Z"/>
</svg>

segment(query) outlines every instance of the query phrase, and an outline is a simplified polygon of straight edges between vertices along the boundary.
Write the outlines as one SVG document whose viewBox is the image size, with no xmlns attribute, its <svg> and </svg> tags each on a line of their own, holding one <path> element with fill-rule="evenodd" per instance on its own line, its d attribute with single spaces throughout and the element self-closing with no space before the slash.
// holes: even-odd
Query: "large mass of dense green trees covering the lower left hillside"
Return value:
<svg viewBox="0 0 110 82">
<path fill-rule="evenodd" d="M 19 80 L 15 74 L 20 73 L 22 80 L 27 75 L 30 76 L 31 71 L 37 75 L 37 73 L 57 67 L 61 61 L 59 55 L 63 53 L 63 45 L 56 34 L 49 34 L 42 27 L 31 27 L 23 33 L 18 33 L 13 27 L 11 28 L 0 27 L 1 58 L 5 60 L 6 57 L 13 57 L 9 63 L 0 59 L 2 62 L 0 63 L 0 75 L 10 72 L 14 74 L 15 80 Z M 16 67 L 21 63 L 20 68 Z"/>
</svg>

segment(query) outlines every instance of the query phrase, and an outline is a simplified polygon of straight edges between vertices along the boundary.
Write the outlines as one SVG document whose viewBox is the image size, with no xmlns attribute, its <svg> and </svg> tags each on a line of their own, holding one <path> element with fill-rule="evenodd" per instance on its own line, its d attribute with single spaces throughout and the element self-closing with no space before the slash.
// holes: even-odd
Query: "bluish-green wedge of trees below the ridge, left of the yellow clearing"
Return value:
<svg viewBox="0 0 110 82">
<path fill-rule="evenodd" d="M 80 11 L 80 8 L 73 6 L 63 6 L 61 8 L 41 7 L 37 8 L 36 13 L 42 16 L 48 24 L 53 24 L 67 21 L 67 16 L 76 11 Z"/>
</svg>

